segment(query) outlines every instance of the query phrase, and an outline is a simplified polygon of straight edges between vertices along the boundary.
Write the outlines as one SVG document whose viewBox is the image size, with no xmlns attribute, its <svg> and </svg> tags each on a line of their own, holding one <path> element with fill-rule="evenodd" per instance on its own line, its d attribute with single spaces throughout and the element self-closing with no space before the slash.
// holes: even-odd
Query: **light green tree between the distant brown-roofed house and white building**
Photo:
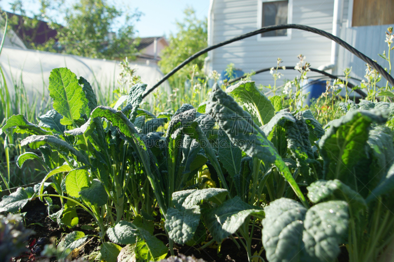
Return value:
<svg viewBox="0 0 394 262">
<path fill-rule="evenodd" d="M 183 62 L 186 58 L 197 53 L 201 49 L 207 47 L 207 19 L 197 19 L 196 11 L 192 8 L 186 8 L 183 11 L 185 17 L 182 22 L 176 22 L 178 33 L 169 36 L 169 45 L 165 48 L 160 57 L 159 65 L 164 74 L 171 71 L 178 64 Z M 202 55 L 192 63 L 178 71 L 177 75 L 186 77 L 192 71 L 192 64 L 197 64 L 198 70 L 201 71 L 204 66 L 205 55 Z M 170 84 L 173 84 L 173 79 L 169 79 Z"/>
</svg>

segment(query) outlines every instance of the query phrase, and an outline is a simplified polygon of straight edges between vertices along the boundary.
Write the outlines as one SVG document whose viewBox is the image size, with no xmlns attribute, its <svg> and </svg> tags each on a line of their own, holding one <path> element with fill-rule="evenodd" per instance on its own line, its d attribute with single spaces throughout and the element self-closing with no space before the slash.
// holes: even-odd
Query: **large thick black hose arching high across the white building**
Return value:
<svg viewBox="0 0 394 262">
<path fill-rule="evenodd" d="M 234 38 L 231 38 L 231 39 L 223 41 L 223 42 L 221 42 L 219 44 L 216 44 L 216 45 L 213 45 L 213 46 L 209 46 L 207 48 L 204 48 L 204 49 L 198 51 L 196 54 L 190 56 L 185 61 L 183 61 L 181 64 L 179 64 L 177 67 L 172 69 L 168 74 L 166 74 L 158 83 L 156 83 L 156 85 L 154 85 L 148 91 L 146 91 L 146 93 L 142 95 L 142 98 L 146 97 L 150 92 L 152 92 L 155 88 L 157 88 L 161 84 L 163 84 L 163 82 L 165 80 L 167 80 L 170 76 L 175 74 L 179 69 L 181 69 L 182 67 L 187 65 L 189 62 L 193 61 L 194 59 L 198 58 L 199 56 L 201 56 L 201 55 L 203 55 L 203 54 L 205 54 L 205 53 L 207 53 L 207 52 L 209 52 L 211 50 L 214 50 L 214 49 L 216 49 L 218 47 L 230 44 L 232 42 L 235 42 L 235 41 L 238 41 L 238 40 L 241 40 L 241 39 L 244 39 L 244 38 L 248 38 L 248 37 L 251 37 L 253 35 L 257 35 L 259 33 L 265 33 L 265 32 L 275 31 L 275 30 L 280 30 L 280 29 L 300 29 L 300 30 L 304 30 L 304 31 L 320 34 L 322 36 L 327 37 L 328 39 L 331 39 L 332 41 L 334 41 L 334 42 L 338 43 L 339 45 L 341 45 L 342 47 L 344 47 L 346 50 L 350 51 L 356 57 L 358 57 L 361 60 L 363 60 L 364 62 L 370 64 L 373 68 L 376 69 L 376 71 L 378 71 L 394 87 L 394 79 L 388 72 L 386 72 L 377 62 L 375 62 L 371 58 L 368 58 L 367 56 L 362 54 L 360 51 L 358 51 L 357 49 L 355 49 L 354 47 L 352 47 L 351 45 L 349 45 L 348 43 L 346 43 L 345 41 L 340 39 L 339 37 L 336 37 L 336 36 L 326 32 L 326 31 L 323 31 L 323 30 L 320 30 L 320 29 L 317 29 L 317 28 L 312 28 L 312 27 L 303 26 L 303 25 L 289 24 L 289 25 L 276 25 L 276 26 L 263 27 L 261 29 L 257 29 L 257 30 L 251 31 L 251 32 L 246 33 L 246 34 L 238 35 L 238 36 L 236 36 Z"/>
</svg>

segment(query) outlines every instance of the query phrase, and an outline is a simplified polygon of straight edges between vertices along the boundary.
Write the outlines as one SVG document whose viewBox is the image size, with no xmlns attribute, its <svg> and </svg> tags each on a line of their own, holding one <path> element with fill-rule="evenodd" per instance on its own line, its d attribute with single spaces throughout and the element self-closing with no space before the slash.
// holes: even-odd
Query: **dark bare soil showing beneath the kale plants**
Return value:
<svg viewBox="0 0 394 262">
<path fill-rule="evenodd" d="M 52 198 L 54 204 L 60 205 L 59 198 Z M 35 199 L 28 204 L 21 210 L 21 212 L 26 212 L 25 215 L 25 222 L 29 229 L 33 229 L 35 234 L 29 238 L 29 245 L 30 245 L 30 252 L 25 254 L 21 257 L 18 257 L 14 261 L 34 261 L 40 258 L 40 253 L 43 250 L 46 244 L 50 244 L 51 241 L 57 241 L 59 243 L 61 238 L 73 231 L 82 231 L 85 234 L 97 234 L 94 230 L 82 230 L 81 226 L 93 223 L 93 218 L 91 218 L 90 214 L 85 212 L 84 210 L 78 210 L 78 217 L 79 223 L 73 229 L 68 228 L 59 228 L 56 222 L 53 222 L 51 219 L 47 218 L 47 209 L 45 204 L 43 204 L 39 199 Z M 160 212 L 159 215 L 156 217 L 156 221 L 160 221 Z M 39 224 L 41 225 L 39 225 Z M 154 234 L 157 233 L 164 233 L 162 228 L 155 228 Z M 164 235 L 157 236 L 161 241 L 164 242 L 168 246 L 168 239 Z M 234 236 L 237 238 L 236 236 Z M 262 241 L 261 241 L 261 230 L 255 229 L 255 233 L 253 235 L 252 240 L 252 254 L 255 252 L 259 253 L 263 249 Z M 90 239 L 90 238 L 88 238 Z M 207 239 L 205 242 L 211 240 L 211 236 L 207 233 Z M 108 240 L 108 239 L 107 239 Z M 198 251 L 197 248 L 200 245 L 195 245 L 194 247 L 190 247 L 187 245 L 176 245 L 174 244 L 174 252 L 175 255 L 184 254 L 186 256 L 194 255 L 197 259 L 203 259 L 206 262 L 246 262 L 248 261 L 248 257 L 246 254 L 245 249 L 243 248 L 239 239 L 236 239 L 238 244 L 241 246 L 240 249 L 235 245 L 235 243 L 230 239 L 226 239 L 222 242 L 220 247 L 220 252 L 218 253 L 218 246 L 216 242 L 211 246 Z M 78 258 L 86 256 L 93 251 L 98 250 L 100 243 L 99 238 L 93 237 L 83 248 L 80 250 Z M 265 252 L 263 251 L 260 254 L 261 257 L 264 258 L 265 261 Z M 52 261 L 55 261 L 52 259 Z M 341 254 L 338 257 L 339 262 L 348 262 L 349 256 L 347 254 L 346 247 L 341 247 Z"/>
</svg>

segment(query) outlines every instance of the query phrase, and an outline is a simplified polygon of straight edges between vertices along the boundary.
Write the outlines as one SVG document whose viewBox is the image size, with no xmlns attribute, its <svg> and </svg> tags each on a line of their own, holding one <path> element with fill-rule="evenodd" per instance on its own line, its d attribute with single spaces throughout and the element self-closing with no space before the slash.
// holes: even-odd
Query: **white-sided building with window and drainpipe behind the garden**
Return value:
<svg viewBox="0 0 394 262">
<path fill-rule="evenodd" d="M 394 0 L 211 0 L 208 44 L 212 46 L 263 26 L 300 24 L 332 33 L 388 67 L 378 53 L 388 53 L 385 31 L 394 27 L 393 13 Z M 283 59 L 281 65 L 295 66 L 298 54 L 305 56 L 311 67 L 324 67 L 328 73 L 342 75 L 343 69 L 352 67 L 351 76 L 363 79 L 365 75 L 366 66 L 361 59 L 328 38 L 298 29 L 259 34 L 210 51 L 207 68 L 221 73 L 234 63 L 248 73 L 276 66 L 277 58 Z M 282 73 L 287 79 L 297 74 L 294 70 Z M 252 79 L 264 86 L 273 84 L 269 72 Z"/>
</svg>

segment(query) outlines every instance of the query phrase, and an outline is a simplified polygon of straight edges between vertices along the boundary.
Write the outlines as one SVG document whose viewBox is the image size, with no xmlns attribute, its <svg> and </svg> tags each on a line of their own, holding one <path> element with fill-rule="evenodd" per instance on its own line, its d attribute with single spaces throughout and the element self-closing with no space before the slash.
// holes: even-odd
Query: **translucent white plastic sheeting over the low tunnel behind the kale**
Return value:
<svg viewBox="0 0 394 262">
<path fill-rule="evenodd" d="M 52 69 L 67 67 L 77 75 L 82 76 L 102 93 L 108 87 L 118 86 L 118 76 L 121 71 L 119 61 L 83 58 L 78 56 L 42 52 L 17 47 L 3 47 L 0 55 L 0 65 L 4 77 L 12 94 L 14 85 L 20 86 L 21 82 L 29 96 L 49 95 L 48 82 Z M 141 64 L 130 62 L 131 68 L 135 69 L 135 75 L 141 77 L 141 81 L 148 85 L 147 89 L 155 85 L 163 77 L 159 67 L 154 64 Z M 170 92 L 168 83 L 162 84 L 166 92 Z"/>
</svg>

